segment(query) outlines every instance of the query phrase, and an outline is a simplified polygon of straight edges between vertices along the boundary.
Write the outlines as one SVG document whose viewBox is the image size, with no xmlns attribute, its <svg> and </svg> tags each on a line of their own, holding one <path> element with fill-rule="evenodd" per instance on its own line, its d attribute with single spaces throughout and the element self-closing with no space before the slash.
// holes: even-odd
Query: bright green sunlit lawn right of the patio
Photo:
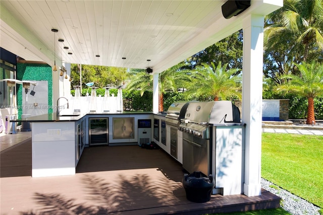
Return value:
<svg viewBox="0 0 323 215">
<path fill-rule="evenodd" d="M 323 136 L 262 133 L 261 177 L 323 208 Z"/>
</svg>

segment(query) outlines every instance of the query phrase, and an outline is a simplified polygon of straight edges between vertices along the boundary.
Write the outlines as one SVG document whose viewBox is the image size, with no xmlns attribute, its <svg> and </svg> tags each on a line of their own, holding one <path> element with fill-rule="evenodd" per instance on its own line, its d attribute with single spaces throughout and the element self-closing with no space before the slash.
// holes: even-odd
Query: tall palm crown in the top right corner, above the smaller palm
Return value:
<svg viewBox="0 0 323 215">
<path fill-rule="evenodd" d="M 322 0 L 284 0 L 283 8 L 268 15 L 265 48 L 271 50 L 288 41 L 296 58 L 294 61 L 306 61 L 310 46 L 323 49 L 322 14 Z"/>
</svg>

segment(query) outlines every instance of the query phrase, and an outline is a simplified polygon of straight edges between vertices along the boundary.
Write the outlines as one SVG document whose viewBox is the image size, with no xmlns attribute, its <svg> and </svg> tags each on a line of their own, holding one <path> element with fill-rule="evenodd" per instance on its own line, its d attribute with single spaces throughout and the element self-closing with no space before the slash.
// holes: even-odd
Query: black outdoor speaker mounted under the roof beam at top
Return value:
<svg viewBox="0 0 323 215">
<path fill-rule="evenodd" d="M 222 14 L 224 18 L 230 19 L 233 16 L 237 16 L 242 13 L 244 10 L 250 7 L 250 1 L 238 1 L 238 0 L 229 0 L 222 5 Z"/>
</svg>

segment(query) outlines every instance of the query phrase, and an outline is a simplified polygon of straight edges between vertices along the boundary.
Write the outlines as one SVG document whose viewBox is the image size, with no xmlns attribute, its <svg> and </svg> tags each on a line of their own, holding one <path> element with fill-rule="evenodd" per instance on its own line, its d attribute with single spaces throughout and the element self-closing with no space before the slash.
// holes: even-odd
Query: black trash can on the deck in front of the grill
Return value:
<svg viewBox="0 0 323 215">
<path fill-rule="evenodd" d="M 210 200 L 212 189 L 215 185 L 212 175 L 207 176 L 202 172 L 184 174 L 182 183 L 186 192 L 186 198 L 198 203 Z"/>
</svg>

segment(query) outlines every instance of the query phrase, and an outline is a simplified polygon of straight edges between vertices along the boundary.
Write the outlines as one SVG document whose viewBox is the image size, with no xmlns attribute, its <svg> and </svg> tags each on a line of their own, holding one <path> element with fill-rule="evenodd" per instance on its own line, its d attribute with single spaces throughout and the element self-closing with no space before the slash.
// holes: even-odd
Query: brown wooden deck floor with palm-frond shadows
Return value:
<svg viewBox="0 0 323 215">
<path fill-rule="evenodd" d="M 1 214 L 205 214 L 279 207 L 280 198 L 186 199 L 182 167 L 162 150 L 86 148 L 77 174 L 31 177 L 31 139 L 1 153 Z"/>
</svg>

